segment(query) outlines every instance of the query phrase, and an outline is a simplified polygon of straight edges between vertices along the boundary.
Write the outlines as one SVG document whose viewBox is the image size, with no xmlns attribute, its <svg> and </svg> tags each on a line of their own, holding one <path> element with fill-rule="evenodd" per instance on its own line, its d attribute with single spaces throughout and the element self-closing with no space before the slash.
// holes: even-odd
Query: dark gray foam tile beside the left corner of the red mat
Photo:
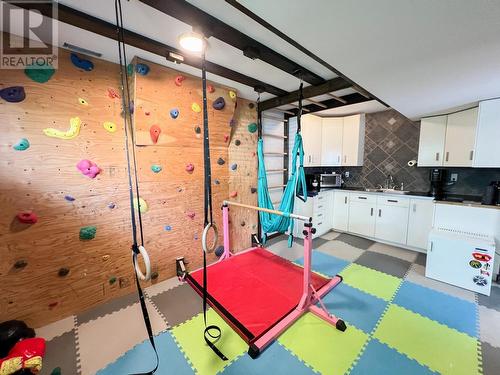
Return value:
<svg viewBox="0 0 500 375">
<path fill-rule="evenodd" d="M 157 294 L 151 301 L 171 327 L 203 311 L 201 297 L 188 284 Z"/>
</svg>

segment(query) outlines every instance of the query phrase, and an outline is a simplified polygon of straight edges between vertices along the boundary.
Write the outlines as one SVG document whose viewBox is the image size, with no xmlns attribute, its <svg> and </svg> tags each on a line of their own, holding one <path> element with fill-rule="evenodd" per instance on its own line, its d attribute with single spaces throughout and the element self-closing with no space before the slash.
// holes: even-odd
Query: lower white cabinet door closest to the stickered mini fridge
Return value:
<svg viewBox="0 0 500 375">
<path fill-rule="evenodd" d="M 434 202 L 425 199 L 411 199 L 410 213 L 408 215 L 408 246 L 427 249 L 429 233 L 432 229 L 434 215 Z"/>
</svg>

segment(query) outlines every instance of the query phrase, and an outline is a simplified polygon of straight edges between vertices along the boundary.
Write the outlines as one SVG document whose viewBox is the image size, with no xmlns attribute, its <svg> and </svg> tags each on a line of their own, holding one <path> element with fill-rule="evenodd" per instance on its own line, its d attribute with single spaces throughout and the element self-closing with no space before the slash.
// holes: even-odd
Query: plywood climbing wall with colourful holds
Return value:
<svg viewBox="0 0 500 375">
<path fill-rule="evenodd" d="M 134 290 L 118 66 L 91 60 L 60 50 L 52 75 L 0 72 L 0 321 L 23 319 L 37 327 Z M 147 74 L 138 63 L 149 67 Z M 190 267 L 201 264 L 203 164 L 196 127 L 202 115 L 191 108 L 201 105 L 201 81 L 185 76 L 177 86 L 178 72 L 147 62 L 136 61 L 130 70 L 145 245 L 155 283 L 174 276 L 178 256 Z M 213 88 L 211 95 L 225 98 L 220 110 L 212 107 L 219 96 L 209 101 L 220 225 L 230 174 L 239 173 L 230 170 L 230 158 L 238 158 L 228 152 L 231 131 L 238 130 L 231 124 L 241 121 L 231 89 Z M 153 125 L 161 129 L 156 144 Z M 255 184 L 256 170 L 249 171 Z M 246 178 L 250 185 L 252 176 Z M 241 229 L 249 238 L 251 226 Z"/>
</svg>

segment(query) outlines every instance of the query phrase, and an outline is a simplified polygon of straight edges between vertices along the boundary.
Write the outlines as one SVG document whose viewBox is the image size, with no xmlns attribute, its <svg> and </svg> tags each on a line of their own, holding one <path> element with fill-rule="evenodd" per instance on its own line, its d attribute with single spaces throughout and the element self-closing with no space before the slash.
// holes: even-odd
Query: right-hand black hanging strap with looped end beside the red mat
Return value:
<svg viewBox="0 0 500 375">
<path fill-rule="evenodd" d="M 207 105 L 207 72 L 205 66 L 205 50 L 203 49 L 201 58 L 201 82 L 203 91 L 203 163 L 204 163 L 204 213 L 205 226 L 213 223 L 212 212 L 212 168 L 210 166 L 210 139 L 208 131 L 208 105 Z M 205 330 L 203 336 L 207 345 L 223 361 L 227 357 L 215 346 L 215 343 L 221 338 L 222 330 L 216 325 L 207 325 L 207 300 L 208 300 L 208 278 L 207 278 L 207 254 L 203 251 L 203 321 Z"/>
</svg>

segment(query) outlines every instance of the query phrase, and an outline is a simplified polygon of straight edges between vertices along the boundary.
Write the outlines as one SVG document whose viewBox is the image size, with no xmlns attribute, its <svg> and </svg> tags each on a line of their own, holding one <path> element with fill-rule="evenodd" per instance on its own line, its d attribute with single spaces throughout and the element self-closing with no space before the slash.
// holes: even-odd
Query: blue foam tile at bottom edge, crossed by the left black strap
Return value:
<svg viewBox="0 0 500 375">
<path fill-rule="evenodd" d="M 160 364 L 156 375 L 193 375 L 194 371 L 184 358 L 169 332 L 155 337 Z M 115 362 L 97 372 L 97 375 L 137 374 L 152 370 L 155 355 L 149 340 L 135 346 Z"/>
</svg>

